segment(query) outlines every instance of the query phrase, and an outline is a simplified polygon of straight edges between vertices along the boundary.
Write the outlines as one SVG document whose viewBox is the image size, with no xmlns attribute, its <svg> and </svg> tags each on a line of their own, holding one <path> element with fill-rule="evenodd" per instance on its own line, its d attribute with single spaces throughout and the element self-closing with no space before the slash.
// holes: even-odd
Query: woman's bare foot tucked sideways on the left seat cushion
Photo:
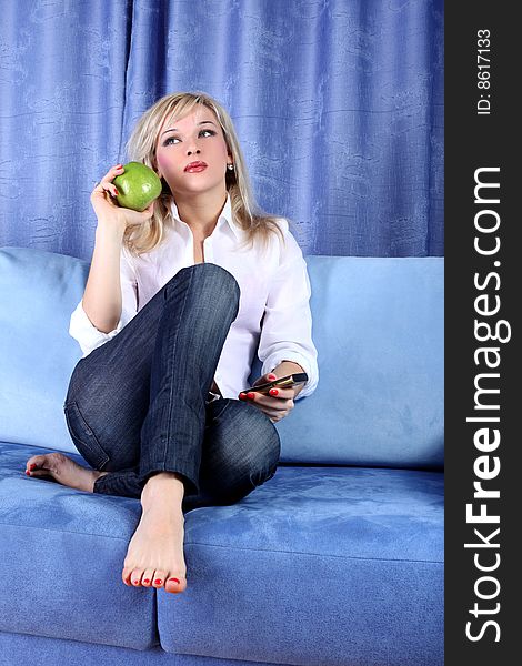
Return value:
<svg viewBox="0 0 522 666">
<path fill-rule="evenodd" d="M 82 467 L 63 453 L 46 453 L 33 455 L 28 460 L 26 474 L 28 476 L 52 476 L 54 481 L 70 488 L 92 493 L 94 481 L 108 472 Z"/>
</svg>

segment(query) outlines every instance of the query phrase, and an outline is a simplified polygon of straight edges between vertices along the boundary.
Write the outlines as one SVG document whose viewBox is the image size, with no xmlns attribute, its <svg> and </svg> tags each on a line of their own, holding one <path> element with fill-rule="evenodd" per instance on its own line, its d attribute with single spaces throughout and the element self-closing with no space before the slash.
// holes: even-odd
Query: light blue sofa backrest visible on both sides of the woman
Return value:
<svg viewBox="0 0 522 666">
<path fill-rule="evenodd" d="M 278 424 L 282 462 L 440 467 L 442 259 L 307 261 L 320 382 Z M 76 451 L 63 402 L 81 351 L 68 331 L 88 272 L 0 249 L 0 441 Z"/>
</svg>

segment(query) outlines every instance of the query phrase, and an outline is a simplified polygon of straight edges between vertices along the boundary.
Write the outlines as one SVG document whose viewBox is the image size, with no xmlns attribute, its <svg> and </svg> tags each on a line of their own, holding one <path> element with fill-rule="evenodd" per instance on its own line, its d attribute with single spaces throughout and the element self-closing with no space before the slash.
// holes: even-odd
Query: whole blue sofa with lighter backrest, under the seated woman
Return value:
<svg viewBox="0 0 522 666">
<path fill-rule="evenodd" d="M 138 500 L 30 478 L 64 451 L 88 263 L 0 249 L 0 663 L 443 663 L 443 261 L 308 258 L 320 384 L 275 476 L 185 515 L 188 589 L 120 578 Z"/>
</svg>

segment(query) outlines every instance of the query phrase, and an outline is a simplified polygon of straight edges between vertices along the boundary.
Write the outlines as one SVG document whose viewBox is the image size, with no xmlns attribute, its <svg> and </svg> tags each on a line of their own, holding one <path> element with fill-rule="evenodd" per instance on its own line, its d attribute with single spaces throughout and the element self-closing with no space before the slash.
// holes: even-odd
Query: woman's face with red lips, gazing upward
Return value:
<svg viewBox="0 0 522 666">
<path fill-rule="evenodd" d="M 228 154 L 223 132 L 213 111 L 203 104 L 182 118 L 163 122 L 155 149 L 158 172 L 171 192 L 224 194 Z"/>
</svg>

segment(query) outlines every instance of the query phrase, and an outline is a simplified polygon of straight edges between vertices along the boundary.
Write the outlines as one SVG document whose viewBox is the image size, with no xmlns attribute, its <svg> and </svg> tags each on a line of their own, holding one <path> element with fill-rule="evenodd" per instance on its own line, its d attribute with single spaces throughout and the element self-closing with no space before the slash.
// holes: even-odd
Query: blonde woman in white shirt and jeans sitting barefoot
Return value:
<svg viewBox="0 0 522 666">
<path fill-rule="evenodd" d="M 187 587 L 183 511 L 231 504 L 275 474 L 274 422 L 318 382 L 310 284 L 285 220 L 259 212 L 228 113 L 205 94 L 160 99 L 127 145 L 161 178 L 143 212 L 119 208 L 109 170 L 91 194 L 96 244 L 70 334 L 83 357 L 64 410 L 91 470 L 34 455 L 30 476 L 139 497 L 126 585 Z M 308 382 L 248 387 L 295 372 Z M 239 400 L 238 400 L 239 398 Z"/>
</svg>

